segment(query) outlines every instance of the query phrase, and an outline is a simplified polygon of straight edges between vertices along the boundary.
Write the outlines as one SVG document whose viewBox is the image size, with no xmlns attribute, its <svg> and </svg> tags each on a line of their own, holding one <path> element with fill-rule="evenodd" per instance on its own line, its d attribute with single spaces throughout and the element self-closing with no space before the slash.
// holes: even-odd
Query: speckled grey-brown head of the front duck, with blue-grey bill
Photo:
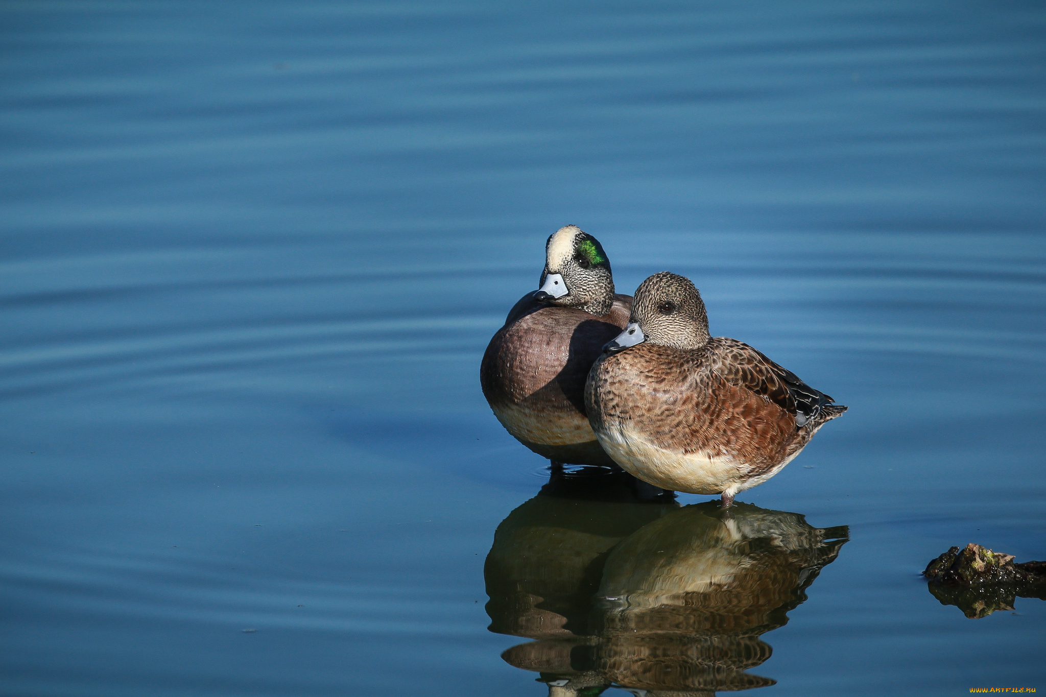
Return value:
<svg viewBox="0 0 1046 697">
<path fill-rule="evenodd" d="M 708 315 L 690 279 L 654 274 L 636 288 L 629 326 L 607 344 L 610 353 L 649 342 L 678 349 L 697 349 L 708 343 Z"/>
</svg>

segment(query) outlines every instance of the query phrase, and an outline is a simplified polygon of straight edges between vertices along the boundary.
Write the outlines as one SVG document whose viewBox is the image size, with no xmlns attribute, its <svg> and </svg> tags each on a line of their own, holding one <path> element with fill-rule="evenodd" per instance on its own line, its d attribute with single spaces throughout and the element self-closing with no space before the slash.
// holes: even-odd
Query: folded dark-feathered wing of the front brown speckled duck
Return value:
<svg viewBox="0 0 1046 697">
<path fill-rule="evenodd" d="M 781 368 L 748 344 L 733 339 L 713 339 L 710 344 L 712 355 L 709 367 L 713 372 L 727 382 L 763 395 L 795 415 L 798 427 L 818 421 L 825 408 L 835 402 L 835 399 L 810 387 L 791 370 Z"/>
</svg>

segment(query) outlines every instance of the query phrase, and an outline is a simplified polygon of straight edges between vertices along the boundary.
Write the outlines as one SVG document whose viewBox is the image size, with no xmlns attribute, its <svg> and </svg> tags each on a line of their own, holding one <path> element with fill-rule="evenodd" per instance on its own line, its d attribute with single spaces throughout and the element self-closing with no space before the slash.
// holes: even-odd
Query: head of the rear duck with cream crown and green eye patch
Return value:
<svg viewBox="0 0 1046 697">
<path fill-rule="evenodd" d="M 545 243 L 545 270 L 535 300 L 576 307 L 596 317 L 609 312 L 614 277 L 599 240 L 575 225 L 552 233 Z"/>
</svg>

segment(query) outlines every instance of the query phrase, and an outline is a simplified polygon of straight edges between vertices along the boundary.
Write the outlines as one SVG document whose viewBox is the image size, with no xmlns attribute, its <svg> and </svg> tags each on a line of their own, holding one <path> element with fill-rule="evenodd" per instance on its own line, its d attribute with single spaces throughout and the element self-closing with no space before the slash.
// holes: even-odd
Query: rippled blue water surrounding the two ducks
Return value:
<svg viewBox="0 0 1046 697">
<path fill-rule="evenodd" d="M 0 20 L 2 694 L 548 694 L 484 579 L 547 463 L 478 367 L 571 223 L 849 406 L 740 497 L 849 534 L 751 694 L 1046 689 L 1046 603 L 970 620 L 918 577 L 1046 558 L 1041 3 Z M 624 504 L 556 501 L 612 547 L 705 498 L 606 536 Z"/>
</svg>

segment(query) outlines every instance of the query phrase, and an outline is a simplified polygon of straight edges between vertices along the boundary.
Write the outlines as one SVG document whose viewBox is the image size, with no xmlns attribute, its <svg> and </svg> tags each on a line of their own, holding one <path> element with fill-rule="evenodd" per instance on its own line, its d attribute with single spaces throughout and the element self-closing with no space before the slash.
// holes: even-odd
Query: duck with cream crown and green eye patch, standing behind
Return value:
<svg viewBox="0 0 1046 697">
<path fill-rule="evenodd" d="M 617 468 L 589 425 L 585 380 L 628 324 L 632 298 L 614 293 L 607 253 L 575 225 L 548 237 L 539 286 L 491 339 L 479 371 L 483 396 L 501 425 L 553 466 Z"/>
</svg>

